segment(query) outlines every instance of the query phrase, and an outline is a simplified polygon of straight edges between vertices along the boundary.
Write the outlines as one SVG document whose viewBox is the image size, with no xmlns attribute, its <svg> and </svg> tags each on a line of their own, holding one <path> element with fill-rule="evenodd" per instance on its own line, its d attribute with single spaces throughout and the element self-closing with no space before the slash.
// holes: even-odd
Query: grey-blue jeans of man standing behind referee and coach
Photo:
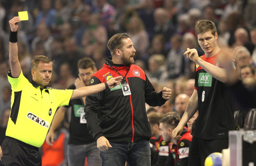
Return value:
<svg viewBox="0 0 256 166">
<path fill-rule="evenodd" d="M 101 166 L 100 150 L 97 143 L 84 145 L 67 145 L 68 165 L 83 166 L 87 157 L 88 165 Z"/>
</svg>

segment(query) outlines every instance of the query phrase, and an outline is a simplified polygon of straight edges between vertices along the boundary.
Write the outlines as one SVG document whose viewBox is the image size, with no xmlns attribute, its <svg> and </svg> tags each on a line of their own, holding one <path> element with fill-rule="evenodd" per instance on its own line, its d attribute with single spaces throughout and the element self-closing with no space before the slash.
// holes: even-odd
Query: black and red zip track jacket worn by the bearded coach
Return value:
<svg viewBox="0 0 256 166">
<path fill-rule="evenodd" d="M 129 84 L 131 95 L 123 96 L 121 84 L 86 97 L 84 108 L 87 127 L 91 136 L 97 140 L 105 136 L 110 142 L 135 142 L 149 140 L 151 127 L 146 114 L 145 103 L 150 106 L 162 106 L 167 100 L 162 98 L 162 91 L 157 93 L 137 65 L 114 64 L 112 57 L 108 63 Z M 106 82 L 119 74 L 107 63 L 91 77 L 90 85 Z"/>
</svg>

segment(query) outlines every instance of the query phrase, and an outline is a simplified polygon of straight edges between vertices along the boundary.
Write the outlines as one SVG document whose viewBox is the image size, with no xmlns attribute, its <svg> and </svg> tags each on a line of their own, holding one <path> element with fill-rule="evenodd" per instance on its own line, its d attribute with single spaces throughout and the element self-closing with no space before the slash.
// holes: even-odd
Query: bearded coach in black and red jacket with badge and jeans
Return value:
<svg viewBox="0 0 256 166">
<path fill-rule="evenodd" d="M 150 165 L 151 127 L 145 103 L 162 106 L 171 96 L 166 87 L 157 93 L 137 65 L 135 49 L 127 33 L 115 34 L 108 41 L 112 57 L 91 77 L 90 85 L 123 76 L 121 84 L 87 96 L 84 108 L 89 133 L 97 141 L 102 165 Z"/>
</svg>

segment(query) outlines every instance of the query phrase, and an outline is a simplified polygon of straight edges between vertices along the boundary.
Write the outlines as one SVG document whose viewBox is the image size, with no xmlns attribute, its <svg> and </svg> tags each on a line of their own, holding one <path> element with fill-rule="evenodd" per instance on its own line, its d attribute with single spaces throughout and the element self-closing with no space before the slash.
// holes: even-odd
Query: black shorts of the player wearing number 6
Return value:
<svg viewBox="0 0 256 166">
<path fill-rule="evenodd" d="M 207 156 L 228 148 L 228 138 L 199 139 L 193 136 L 189 147 L 189 166 L 204 166 Z"/>
</svg>

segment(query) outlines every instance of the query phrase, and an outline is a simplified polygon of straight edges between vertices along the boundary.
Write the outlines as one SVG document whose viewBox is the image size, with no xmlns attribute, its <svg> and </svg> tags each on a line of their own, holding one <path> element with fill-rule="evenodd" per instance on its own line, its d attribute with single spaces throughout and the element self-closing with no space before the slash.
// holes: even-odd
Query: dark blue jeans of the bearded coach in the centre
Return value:
<svg viewBox="0 0 256 166">
<path fill-rule="evenodd" d="M 149 141 L 110 142 L 112 148 L 101 151 L 102 166 L 150 166 Z"/>
</svg>

